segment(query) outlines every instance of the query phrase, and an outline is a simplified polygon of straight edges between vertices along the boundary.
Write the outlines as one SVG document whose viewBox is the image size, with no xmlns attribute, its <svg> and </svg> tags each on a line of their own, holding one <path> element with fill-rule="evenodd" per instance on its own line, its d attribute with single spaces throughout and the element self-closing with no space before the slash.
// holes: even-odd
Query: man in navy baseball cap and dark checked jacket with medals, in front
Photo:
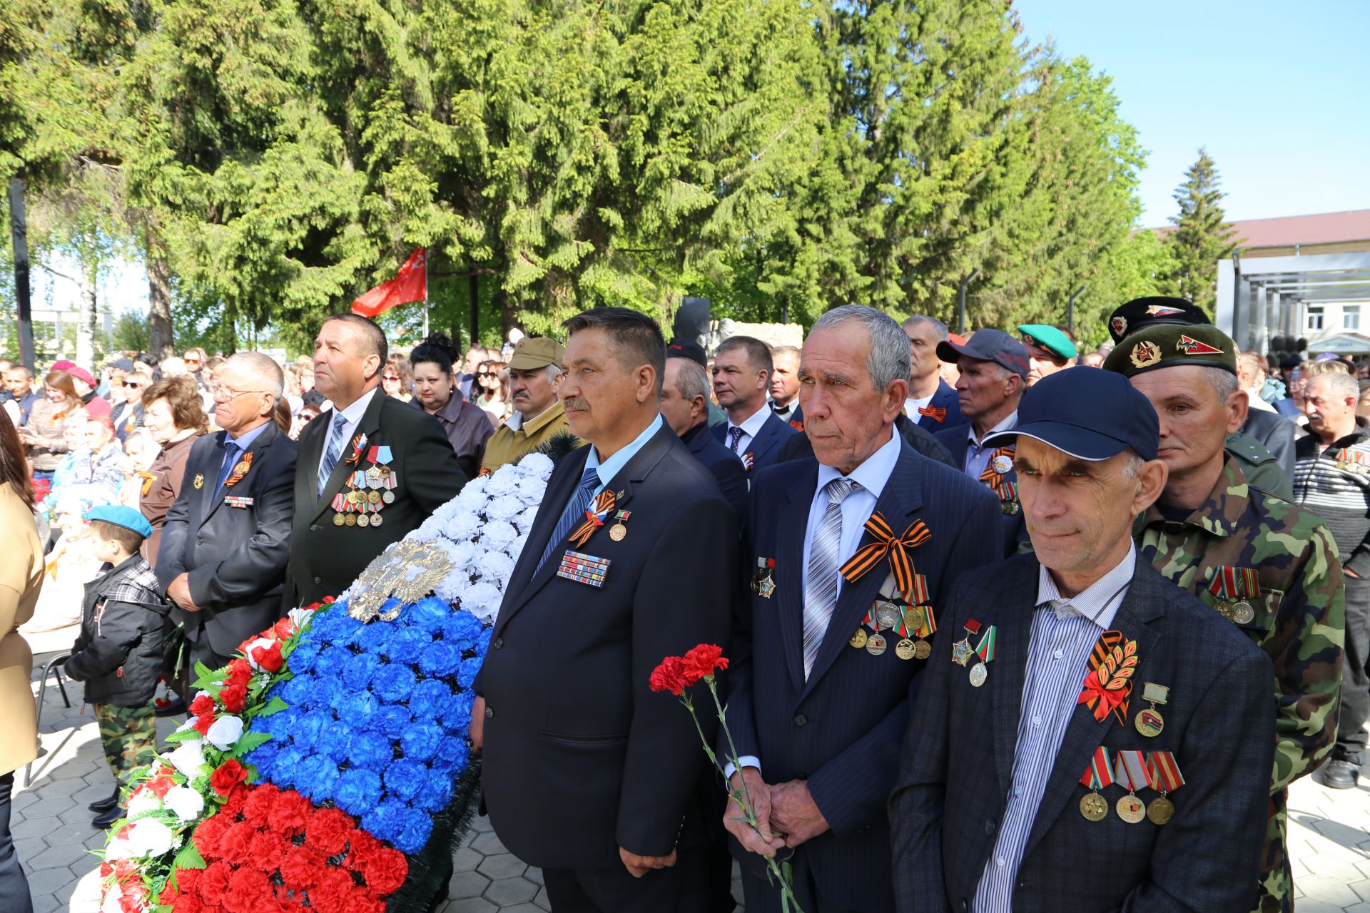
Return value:
<svg viewBox="0 0 1370 913">
<path fill-rule="evenodd" d="M 1147 398 L 1088 367 L 989 438 L 1018 442 L 1036 554 L 947 604 L 889 799 L 899 910 L 1252 908 L 1270 660 L 1137 560 L 1158 438 Z"/>
</svg>

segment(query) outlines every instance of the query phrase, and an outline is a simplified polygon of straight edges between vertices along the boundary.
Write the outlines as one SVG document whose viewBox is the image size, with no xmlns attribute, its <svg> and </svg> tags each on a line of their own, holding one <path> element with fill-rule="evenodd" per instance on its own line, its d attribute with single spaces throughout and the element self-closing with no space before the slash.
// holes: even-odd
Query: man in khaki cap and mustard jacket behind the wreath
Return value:
<svg viewBox="0 0 1370 913">
<path fill-rule="evenodd" d="M 556 339 L 525 337 L 510 356 L 510 394 L 514 415 L 485 442 L 482 472 L 518 463 L 553 435 L 570 434 L 566 411 L 556 398 L 566 349 Z"/>
</svg>

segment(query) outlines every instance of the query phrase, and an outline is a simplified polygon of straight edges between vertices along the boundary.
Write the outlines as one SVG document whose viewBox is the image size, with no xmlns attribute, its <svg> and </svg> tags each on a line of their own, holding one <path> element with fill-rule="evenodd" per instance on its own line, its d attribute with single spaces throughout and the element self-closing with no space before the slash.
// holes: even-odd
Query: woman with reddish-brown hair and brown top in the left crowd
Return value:
<svg viewBox="0 0 1370 913">
<path fill-rule="evenodd" d="M 156 567 L 162 523 L 181 493 L 190 445 L 206 433 L 208 419 L 200 390 L 188 375 L 166 378 L 149 386 L 142 394 L 142 408 L 152 439 L 162 445 L 162 453 L 148 470 L 152 474 L 151 485 L 138 504 L 142 516 L 152 524 L 152 535 L 142 542 L 142 557 Z"/>
</svg>

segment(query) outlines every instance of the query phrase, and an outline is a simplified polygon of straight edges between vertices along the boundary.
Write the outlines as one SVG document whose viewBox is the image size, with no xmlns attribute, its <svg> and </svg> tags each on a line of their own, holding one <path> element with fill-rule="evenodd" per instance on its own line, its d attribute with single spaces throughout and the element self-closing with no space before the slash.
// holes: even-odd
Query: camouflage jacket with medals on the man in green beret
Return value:
<svg viewBox="0 0 1370 913">
<path fill-rule="evenodd" d="M 1255 909 L 1292 910 L 1286 788 L 1321 764 L 1337 736 L 1345 587 L 1336 542 L 1319 517 L 1248 486 L 1234 460 L 1186 519 L 1166 520 L 1152 506 L 1133 532 L 1145 560 L 1208 605 L 1219 598 L 1208 589 L 1218 568 L 1258 572 L 1260 595 L 1247 600 L 1255 617 L 1240 627 L 1274 661 L 1277 745 Z"/>
</svg>

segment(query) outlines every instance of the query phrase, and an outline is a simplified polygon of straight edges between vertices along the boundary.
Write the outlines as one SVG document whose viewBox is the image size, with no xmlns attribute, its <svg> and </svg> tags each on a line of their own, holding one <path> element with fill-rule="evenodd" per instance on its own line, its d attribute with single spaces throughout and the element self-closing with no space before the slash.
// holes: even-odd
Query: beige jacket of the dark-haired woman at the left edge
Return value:
<svg viewBox="0 0 1370 913">
<path fill-rule="evenodd" d="M 38 719 L 33 706 L 33 653 L 19 626 L 33 617 L 42 589 L 42 548 L 33 513 L 8 483 L 0 483 L 0 773 L 38 757 Z"/>
</svg>

